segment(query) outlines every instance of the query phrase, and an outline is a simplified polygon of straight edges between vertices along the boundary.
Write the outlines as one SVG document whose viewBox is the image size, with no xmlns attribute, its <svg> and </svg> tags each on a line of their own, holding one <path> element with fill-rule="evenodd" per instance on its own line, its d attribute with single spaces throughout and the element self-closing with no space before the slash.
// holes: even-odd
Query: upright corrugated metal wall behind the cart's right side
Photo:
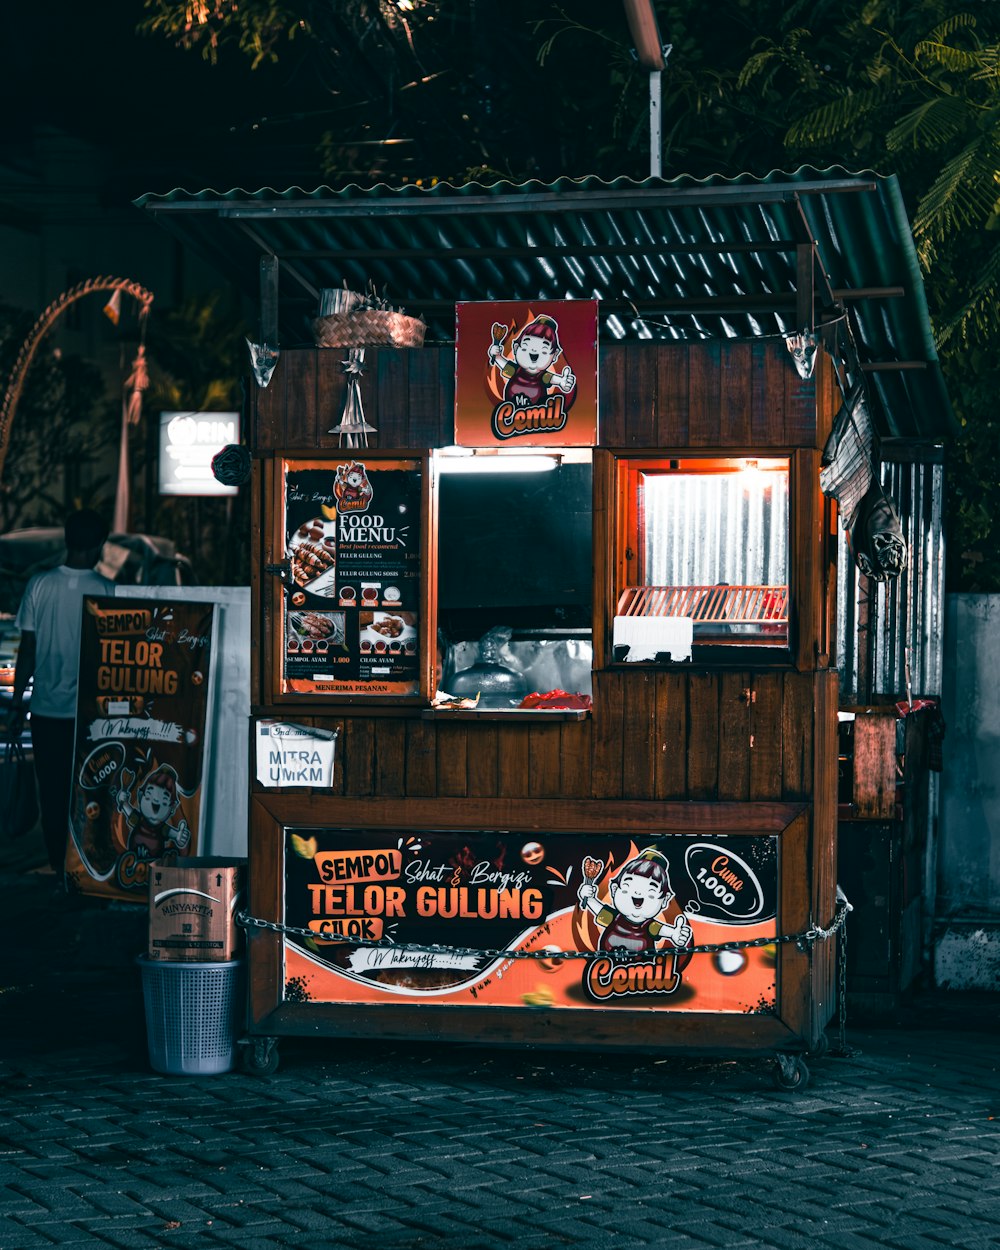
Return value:
<svg viewBox="0 0 1000 1250">
<path fill-rule="evenodd" d="M 909 548 L 896 581 L 862 578 L 840 531 L 838 639 L 845 704 L 941 694 L 945 620 L 944 465 L 882 461 Z M 909 680 L 908 680 L 909 668 Z"/>
</svg>

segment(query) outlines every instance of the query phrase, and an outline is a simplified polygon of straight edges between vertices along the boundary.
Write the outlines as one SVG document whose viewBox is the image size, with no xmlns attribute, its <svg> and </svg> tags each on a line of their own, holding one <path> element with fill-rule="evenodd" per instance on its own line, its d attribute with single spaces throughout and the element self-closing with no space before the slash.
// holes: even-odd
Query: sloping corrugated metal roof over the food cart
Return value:
<svg viewBox="0 0 1000 1250">
<path fill-rule="evenodd" d="M 464 300 L 598 299 L 601 336 L 788 335 L 864 372 L 882 438 L 939 440 L 954 415 L 895 178 L 598 178 L 431 188 L 174 190 L 136 204 L 256 298 L 279 260 L 282 346 L 311 342 L 319 292 L 369 282 L 454 339 Z M 854 379 L 851 379 L 854 380 Z"/>
</svg>

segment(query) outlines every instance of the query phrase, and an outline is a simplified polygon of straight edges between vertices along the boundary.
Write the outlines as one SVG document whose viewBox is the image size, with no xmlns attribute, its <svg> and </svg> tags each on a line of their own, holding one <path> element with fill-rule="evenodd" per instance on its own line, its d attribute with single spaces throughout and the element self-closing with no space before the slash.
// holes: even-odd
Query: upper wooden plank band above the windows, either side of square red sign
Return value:
<svg viewBox="0 0 1000 1250">
<path fill-rule="evenodd" d="M 284 351 L 270 386 L 251 391 L 258 452 L 335 449 L 330 426 L 346 392 L 346 349 Z M 824 358 L 825 359 L 825 358 Z M 454 348 L 368 348 L 361 375 L 371 446 L 422 449 L 454 441 Z M 604 344 L 599 358 L 599 445 L 606 448 L 815 446 L 818 386 L 824 426 L 832 366 L 820 381 L 795 372 L 784 342 Z"/>
</svg>

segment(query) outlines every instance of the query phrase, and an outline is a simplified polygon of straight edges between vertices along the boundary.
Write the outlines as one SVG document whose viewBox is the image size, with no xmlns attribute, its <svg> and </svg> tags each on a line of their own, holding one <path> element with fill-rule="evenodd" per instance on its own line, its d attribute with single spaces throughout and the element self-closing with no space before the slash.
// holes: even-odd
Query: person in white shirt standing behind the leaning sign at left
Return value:
<svg viewBox="0 0 1000 1250">
<path fill-rule="evenodd" d="M 94 570 L 108 525 L 89 508 L 66 519 L 66 559 L 30 579 L 14 624 L 21 631 L 14 670 L 14 710 L 8 738 L 21 735 L 24 694 L 31 686 L 31 751 L 39 788 L 45 850 L 62 874 L 70 819 L 76 681 L 84 595 L 112 595 L 115 584 Z"/>
</svg>

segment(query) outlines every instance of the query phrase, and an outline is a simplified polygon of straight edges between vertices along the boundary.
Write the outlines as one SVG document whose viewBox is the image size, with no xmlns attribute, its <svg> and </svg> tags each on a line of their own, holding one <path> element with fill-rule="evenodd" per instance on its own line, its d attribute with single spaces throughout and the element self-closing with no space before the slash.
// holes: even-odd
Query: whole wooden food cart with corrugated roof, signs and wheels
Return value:
<svg viewBox="0 0 1000 1250">
<path fill-rule="evenodd" d="M 836 500 L 865 482 L 831 485 L 831 431 L 878 472 L 948 412 L 895 181 L 142 204 L 262 255 L 282 316 L 248 414 L 248 1065 L 416 1038 L 768 1054 L 800 1086 L 846 914 Z M 286 345 L 366 284 L 421 346 Z M 511 400 L 516 331 L 578 312 Z M 552 464 L 454 471 L 514 450 Z"/>
</svg>

